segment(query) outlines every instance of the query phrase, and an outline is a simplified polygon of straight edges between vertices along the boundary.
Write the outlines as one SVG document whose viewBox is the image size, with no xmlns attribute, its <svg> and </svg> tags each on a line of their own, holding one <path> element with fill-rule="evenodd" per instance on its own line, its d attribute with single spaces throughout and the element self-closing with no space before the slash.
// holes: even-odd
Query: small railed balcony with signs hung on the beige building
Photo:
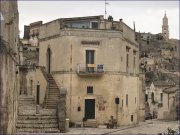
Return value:
<svg viewBox="0 0 180 135">
<path fill-rule="evenodd" d="M 77 74 L 79 76 L 102 76 L 104 75 L 104 65 L 103 64 L 87 64 L 86 66 L 83 66 L 81 64 L 78 64 Z"/>
</svg>

